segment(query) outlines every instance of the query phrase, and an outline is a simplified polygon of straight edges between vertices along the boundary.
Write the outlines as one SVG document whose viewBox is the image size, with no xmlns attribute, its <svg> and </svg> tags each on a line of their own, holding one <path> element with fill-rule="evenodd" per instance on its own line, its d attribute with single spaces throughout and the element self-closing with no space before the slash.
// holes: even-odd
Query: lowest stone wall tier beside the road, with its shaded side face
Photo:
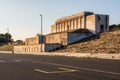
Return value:
<svg viewBox="0 0 120 80">
<path fill-rule="evenodd" d="M 49 52 L 60 48 L 61 44 L 39 44 L 39 45 L 22 45 L 22 46 L 14 46 L 14 53 L 41 53 L 41 52 Z M 41 48 L 42 47 L 42 48 Z"/>
</svg>

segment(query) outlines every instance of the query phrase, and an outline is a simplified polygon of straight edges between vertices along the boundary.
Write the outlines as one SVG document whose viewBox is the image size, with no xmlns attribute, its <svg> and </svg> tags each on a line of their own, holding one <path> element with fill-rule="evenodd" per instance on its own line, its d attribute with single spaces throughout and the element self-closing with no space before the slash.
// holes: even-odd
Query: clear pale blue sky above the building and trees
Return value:
<svg viewBox="0 0 120 80">
<path fill-rule="evenodd" d="M 9 33 L 14 40 L 25 40 L 51 32 L 56 19 L 83 11 L 110 15 L 110 25 L 120 23 L 120 0 L 0 0 L 0 33 Z"/>
</svg>

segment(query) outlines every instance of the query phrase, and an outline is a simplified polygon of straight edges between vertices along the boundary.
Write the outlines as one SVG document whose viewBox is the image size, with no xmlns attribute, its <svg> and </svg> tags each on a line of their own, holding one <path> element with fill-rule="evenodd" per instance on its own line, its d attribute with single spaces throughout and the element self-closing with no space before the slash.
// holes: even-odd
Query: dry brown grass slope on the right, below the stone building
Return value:
<svg viewBox="0 0 120 80">
<path fill-rule="evenodd" d="M 120 30 L 102 33 L 100 38 L 69 45 L 59 52 L 120 53 Z"/>
</svg>

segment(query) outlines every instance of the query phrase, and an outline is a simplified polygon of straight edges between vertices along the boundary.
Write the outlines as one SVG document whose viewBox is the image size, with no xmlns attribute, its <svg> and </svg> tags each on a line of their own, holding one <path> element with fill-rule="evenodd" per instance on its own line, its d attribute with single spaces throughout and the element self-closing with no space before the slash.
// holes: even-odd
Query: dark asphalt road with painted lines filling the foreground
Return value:
<svg viewBox="0 0 120 80">
<path fill-rule="evenodd" d="M 0 80 L 120 80 L 120 61 L 0 54 Z"/>
</svg>

